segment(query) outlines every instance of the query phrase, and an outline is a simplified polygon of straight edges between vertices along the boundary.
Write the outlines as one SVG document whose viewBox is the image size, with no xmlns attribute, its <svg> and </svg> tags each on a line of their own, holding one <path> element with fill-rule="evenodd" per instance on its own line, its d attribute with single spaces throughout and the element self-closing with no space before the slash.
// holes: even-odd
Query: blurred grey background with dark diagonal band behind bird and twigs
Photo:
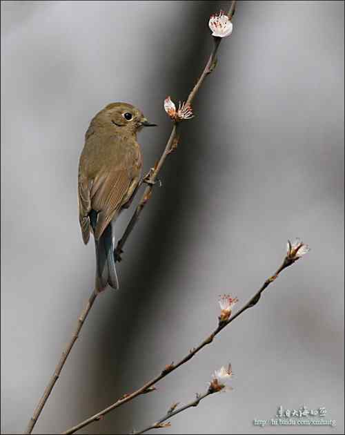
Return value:
<svg viewBox="0 0 345 435">
<path fill-rule="evenodd" d="M 90 119 L 128 101 L 157 122 L 139 137 L 148 171 L 170 134 L 164 98 L 186 99 L 210 52 L 208 17 L 228 4 L 1 2 L 3 434 L 23 432 L 92 289 L 77 215 Z M 344 433 L 343 94 L 342 1 L 239 1 L 126 245 L 121 289 L 97 298 L 34 432 L 62 432 L 179 360 L 217 324 L 219 294 L 246 302 L 299 236 L 311 253 L 255 309 L 157 392 L 80 433 L 140 429 L 229 361 L 233 391 L 164 433 Z M 336 427 L 253 425 L 304 404 L 326 407 Z"/>
</svg>

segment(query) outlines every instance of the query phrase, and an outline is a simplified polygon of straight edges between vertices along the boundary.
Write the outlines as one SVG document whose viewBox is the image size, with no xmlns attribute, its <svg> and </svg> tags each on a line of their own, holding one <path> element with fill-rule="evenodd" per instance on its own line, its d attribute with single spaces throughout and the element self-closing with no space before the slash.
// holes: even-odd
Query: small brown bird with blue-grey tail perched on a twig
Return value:
<svg viewBox="0 0 345 435">
<path fill-rule="evenodd" d="M 128 103 L 111 103 L 99 111 L 86 131 L 79 158 L 79 224 L 84 244 L 95 239 L 95 291 L 109 284 L 119 289 L 115 269 L 115 221 L 128 208 L 141 180 L 142 155 L 137 133 L 148 122 Z"/>
</svg>

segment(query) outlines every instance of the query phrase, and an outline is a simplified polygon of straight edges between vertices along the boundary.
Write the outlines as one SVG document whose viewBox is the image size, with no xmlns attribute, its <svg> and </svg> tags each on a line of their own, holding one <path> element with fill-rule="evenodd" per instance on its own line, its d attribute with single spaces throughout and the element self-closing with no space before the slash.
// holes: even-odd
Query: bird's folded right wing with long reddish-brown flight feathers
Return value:
<svg viewBox="0 0 345 435">
<path fill-rule="evenodd" d="M 98 211 L 95 239 L 98 240 L 115 213 L 121 209 L 132 182 L 125 168 L 117 168 L 105 177 L 99 177 L 90 189 L 91 209 Z"/>
</svg>

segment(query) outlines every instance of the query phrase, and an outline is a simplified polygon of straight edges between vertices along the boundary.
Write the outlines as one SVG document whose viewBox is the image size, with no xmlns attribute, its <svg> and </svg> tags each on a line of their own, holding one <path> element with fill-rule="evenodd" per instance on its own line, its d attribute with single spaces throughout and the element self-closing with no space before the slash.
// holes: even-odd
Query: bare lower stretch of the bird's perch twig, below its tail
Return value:
<svg viewBox="0 0 345 435">
<path fill-rule="evenodd" d="M 32 414 L 32 417 L 30 418 L 30 421 L 28 423 L 28 427 L 26 427 L 25 434 L 31 434 L 32 429 L 34 428 L 34 425 L 36 424 L 36 422 L 39 418 L 39 414 L 41 414 L 41 411 L 42 411 L 44 405 L 46 404 L 46 401 L 48 400 L 48 397 L 49 397 L 50 393 L 52 392 L 52 389 L 54 388 L 54 385 L 60 376 L 63 365 L 65 365 L 66 360 L 68 358 L 68 355 L 70 354 L 70 351 L 71 351 L 73 345 L 75 344 L 75 342 L 79 336 L 79 332 L 80 332 L 81 328 L 83 327 L 83 323 L 85 322 L 86 318 L 88 317 L 88 313 L 90 312 L 90 309 L 91 309 L 93 303 L 95 302 L 96 297 L 97 297 L 97 293 L 95 291 L 92 291 L 90 298 L 88 299 L 88 302 L 86 304 L 86 307 L 80 313 L 75 332 L 73 333 L 70 342 L 68 342 L 66 349 L 62 352 L 59 363 L 57 363 L 57 367 L 55 367 L 54 374 L 52 374 L 52 377 L 50 378 L 49 383 L 46 386 L 46 389 L 44 390 L 43 395 L 42 395 L 41 399 L 39 400 L 39 403 L 38 403 L 36 409 L 34 409 L 34 413 Z"/>
</svg>

